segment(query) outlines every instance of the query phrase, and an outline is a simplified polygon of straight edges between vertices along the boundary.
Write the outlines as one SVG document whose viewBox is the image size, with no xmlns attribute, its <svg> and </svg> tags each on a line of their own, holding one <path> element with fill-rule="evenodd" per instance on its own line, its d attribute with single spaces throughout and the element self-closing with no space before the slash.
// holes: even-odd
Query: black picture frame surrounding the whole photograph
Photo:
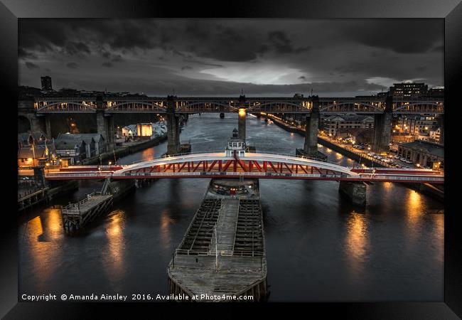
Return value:
<svg viewBox="0 0 462 320">
<path fill-rule="evenodd" d="M 303 317 L 321 312 L 329 316 L 341 313 L 342 317 L 352 316 L 355 319 L 459 319 L 462 316 L 462 240 L 460 214 L 456 206 L 458 198 L 457 139 L 456 132 L 457 95 L 461 91 L 461 43 L 462 43 L 462 4 L 460 0 L 348 0 L 348 1 L 188 1 L 179 4 L 176 1 L 110 1 L 110 0 L 1 0 L 1 87 L 4 119 L 16 117 L 18 57 L 17 36 L 18 18 L 148 18 L 148 17 L 203 17 L 203 18 L 442 18 L 445 25 L 445 216 L 444 216 L 444 301 L 439 302 L 359 302 L 359 303 L 326 303 L 326 304 L 291 304 L 289 308 L 282 304 L 266 304 L 252 307 L 258 313 L 272 313 L 275 308 L 284 311 L 286 316 L 293 314 L 295 307 L 300 309 Z M 7 99 L 5 99 L 7 98 Z M 11 117 L 10 117 L 11 113 Z M 7 120 L 6 120 L 7 121 Z M 13 120 L 11 120 L 13 121 Z M 16 123 L 16 120 L 14 120 Z M 13 132 L 13 129 L 11 129 Z M 456 133 L 457 134 L 457 133 Z M 11 154 L 16 150 L 14 138 L 4 135 L 4 149 L 11 147 Z M 451 140 L 453 139 L 453 142 Z M 6 144 L 11 146 L 6 147 Z M 451 148 L 451 147 L 450 147 Z M 11 174 L 11 183 L 16 184 L 16 156 L 3 159 L 4 175 Z M 9 162 L 11 160 L 11 163 Z M 7 177 L 4 177 L 6 179 Z M 4 183 L 8 183 L 5 182 Z M 8 189 L 9 183 L 5 184 Z M 10 189 L 12 189 L 10 187 Z M 9 190 L 4 190 L 8 192 Z M 11 191 L 12 193 L 14 190 Z M 13 197 L 14 195 L 12 195 Z M 8 202 L 8 196 L 4 201 Z M 449 206 L 454 201 L 453 206 Z M 12 202 L 12 201 L 11 201 Z M 97 304 L 69 302 L 21 302 L 18 303 L 18 255 L 17 247 L 17 215 L 16 207 L 2 210 L 1 218 L 1 265 L 0 273 L 0 316 L 4 319 L 88 319 L 96 317 L 94 312 L 100 309 Z M 239 316 L 241 307 L 233 305 L 214 306 L 220 313 L 200 314 L 198 306 L 182 308 L 172 304 L 104 304 L 104 312 L 111 311 L 122 316 L 122 309 L 136 308 L 136 314 L 151 309 L 151 312 L 162 310 L 162 314 L 150 313 L 149 318 L 161 316 L 171 317 L 178 309 L 188 312 L 188 317 L 200 316 L 228 318 Z M 282 307 L 281 307 L 282 306 Z M 223 311 L 226 308 L 226 311 Z M 186 310 L 184 310 L 186 309 Z M 203 308 L 201 308 L 203 309 Z M 247 311 L 249 308 L 246 308 Z M 202 310 L 203 311 L 203 310 Z M 108 314 L 106 314 L 108 315 Z M 132 314 L 134 315 L 134 314 Z"/>
</svg>

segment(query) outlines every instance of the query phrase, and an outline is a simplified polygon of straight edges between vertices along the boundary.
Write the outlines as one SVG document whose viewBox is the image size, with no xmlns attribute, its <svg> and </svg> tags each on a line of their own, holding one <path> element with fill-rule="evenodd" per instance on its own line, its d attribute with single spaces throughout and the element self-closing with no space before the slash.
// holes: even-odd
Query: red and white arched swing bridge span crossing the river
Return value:
<svg viewBox="0 0 462 320">
<path fill-rule="evenodd" d="M 350 168 L 299 156 L 225 152 L 166 156 L 129 165 L 69 166 L 45 173 L 48 180 L 134 178 L 282 178 L 299 180 L 444 183 L 444 173 L 431 169 Z"/>
</svg>

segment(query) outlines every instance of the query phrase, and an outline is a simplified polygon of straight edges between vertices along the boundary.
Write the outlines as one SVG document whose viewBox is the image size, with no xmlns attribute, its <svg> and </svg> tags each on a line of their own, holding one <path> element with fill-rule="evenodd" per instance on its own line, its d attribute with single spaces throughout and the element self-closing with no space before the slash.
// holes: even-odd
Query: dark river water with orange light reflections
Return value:
<svg viewBox="0 0 462 320">
<path fill-rule="evenodd" d="M 193 151 L 222 150 L 237 115 L 190 117 L 181 133 Z M 303 137 L 247 119 L 247 143 L 294 154 Z M 121 159 L 152 159 L 166 144 Z M 352 166 L 335 151 L 331 161 Z M 166 267 L 210 179 L 159 180 L 116 203 L 84 234 L 63 233 L 58 209 L 21 217 L 19 292 L 166 294 Z M 67 203 L 100 188 L 80 183 Z M 335 181 L 260 180 L 270 301 L 431 301 L 443 299 L 443 203 L 394 183 L 367 186 L 358 209 Z"/>
</svg>

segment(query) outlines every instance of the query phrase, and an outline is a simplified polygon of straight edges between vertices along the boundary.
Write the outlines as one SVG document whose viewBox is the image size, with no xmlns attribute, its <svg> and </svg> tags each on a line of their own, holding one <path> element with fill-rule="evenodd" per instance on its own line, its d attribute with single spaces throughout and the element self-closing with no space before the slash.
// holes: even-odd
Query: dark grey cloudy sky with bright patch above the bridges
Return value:
<svg viewBox="0 0 462 320">
<path fill-rule="evenodd" d="M 20 19 L 19 84 L 147 95 L 366 95 L 444 85 L 444 21 Z"/>
</svg>

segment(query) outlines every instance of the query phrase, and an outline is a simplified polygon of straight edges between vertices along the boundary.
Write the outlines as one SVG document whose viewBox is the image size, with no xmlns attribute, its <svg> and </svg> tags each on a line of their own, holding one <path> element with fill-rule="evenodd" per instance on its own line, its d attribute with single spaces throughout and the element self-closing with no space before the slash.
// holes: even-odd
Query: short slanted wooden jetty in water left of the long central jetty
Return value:
<svg viewBox="0 0 462 320">
<path fill-rule="evenodd" d="M 61 218 L 66 233 L 75 233 L 112 206 L 112 194 L 93 192 L 78 203 L 61 207 Z"/>
</svg>

